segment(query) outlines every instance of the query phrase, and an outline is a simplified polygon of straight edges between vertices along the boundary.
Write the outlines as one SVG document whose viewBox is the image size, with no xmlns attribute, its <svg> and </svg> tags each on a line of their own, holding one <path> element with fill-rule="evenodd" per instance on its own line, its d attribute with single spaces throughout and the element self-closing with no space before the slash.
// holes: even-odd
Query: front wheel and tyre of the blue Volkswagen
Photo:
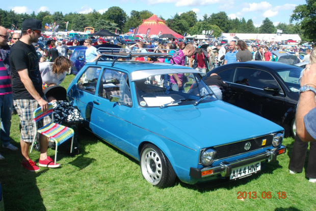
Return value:
<svg viewBox="0 0 316 211">
<path fill-rule="evenodd" d="M 157 188 L 170 187 L 175 181 L 176 174 L 168 158 L 152 144 L 142 148 L 140 166 L 143 177 Z"/>
</svg>

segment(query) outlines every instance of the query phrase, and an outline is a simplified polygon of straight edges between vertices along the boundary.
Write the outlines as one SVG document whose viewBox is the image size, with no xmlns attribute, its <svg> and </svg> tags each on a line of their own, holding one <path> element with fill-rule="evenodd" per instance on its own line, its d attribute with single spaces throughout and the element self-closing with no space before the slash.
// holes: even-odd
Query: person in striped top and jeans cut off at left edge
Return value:
<svg viewBox="0 0 316 211">
<path fill-rule="evenodd" d="M 0 27 L 0 138 L 3 148 L 16 151 L 18 148 L 10 143 L 13 98 L 9 62 L 10 47 L 7 44 L 8 39 L 8 31 L 4 27 Z M 5 159 L 5 157 L 0 154 L 0 160 L 3 159 Z"/>
</svg>

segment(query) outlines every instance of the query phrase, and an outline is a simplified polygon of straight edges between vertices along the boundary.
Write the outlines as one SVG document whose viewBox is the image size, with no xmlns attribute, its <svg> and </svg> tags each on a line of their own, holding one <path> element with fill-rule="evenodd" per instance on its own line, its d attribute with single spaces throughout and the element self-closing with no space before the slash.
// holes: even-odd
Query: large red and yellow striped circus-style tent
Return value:
<svg viewBox="0 0 316 211">
<path fill-rule="evenodd" d="M 137 34 L 146 34 L 148 28 L 150 28 L 150 35 L 158 35 L 160 32 L 163 34 L 171 34 L 175 38 L 183 38 L 182 35 L 179 35 L 175 31 L 167 27 L 165 20 L 160 19 L 156 15 L 152 15 L 150 18 L 143 20 L 143 23 L 138 27 Z"/>
</svg>

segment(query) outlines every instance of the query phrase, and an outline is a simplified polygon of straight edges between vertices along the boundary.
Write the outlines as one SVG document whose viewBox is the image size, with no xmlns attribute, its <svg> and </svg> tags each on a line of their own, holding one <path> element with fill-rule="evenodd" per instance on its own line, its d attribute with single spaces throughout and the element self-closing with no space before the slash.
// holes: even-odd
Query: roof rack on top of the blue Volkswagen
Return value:
<svg viewBox="0 0 316 211">
<path fill-rule="evenodd" d="M 131 50 L 127 48 L 111 48 L 111 47 L 99 47 L 97 50 L 101 53 L 95 64 L 100 61 L 100 58 L 107 58 L 113 60 L 112 66 L 117 61 L 117 59 L 131 59 L 132 57 L 150 57 L 150 58 L 170 58 L 175 57 L 179 52 L 175 49 L 172 49 L 174 52 L 156 52 L 157 50 L 165 50 L 162 48 L 142 48 L 146 49 L 147 52 L 141 52 L 138 50 Z M 152 50 L 152 51 L 148 51 Z"/>
</svg>

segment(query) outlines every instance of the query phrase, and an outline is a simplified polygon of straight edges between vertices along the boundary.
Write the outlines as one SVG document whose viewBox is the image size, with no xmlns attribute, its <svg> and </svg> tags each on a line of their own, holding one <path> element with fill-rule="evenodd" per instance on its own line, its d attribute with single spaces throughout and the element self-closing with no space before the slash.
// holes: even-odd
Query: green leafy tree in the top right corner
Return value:
<svg viewBox="0 0 316 211">
<path fill-rule="evenodd" d="M 306 5 L 299 5 L 293 11 L 290 22 L 299 22 L 306 41 L 316 41 L 316 0 L 306 0 Z M 302 38 L 303 40 L 303 38 Z"/>
</svg>

